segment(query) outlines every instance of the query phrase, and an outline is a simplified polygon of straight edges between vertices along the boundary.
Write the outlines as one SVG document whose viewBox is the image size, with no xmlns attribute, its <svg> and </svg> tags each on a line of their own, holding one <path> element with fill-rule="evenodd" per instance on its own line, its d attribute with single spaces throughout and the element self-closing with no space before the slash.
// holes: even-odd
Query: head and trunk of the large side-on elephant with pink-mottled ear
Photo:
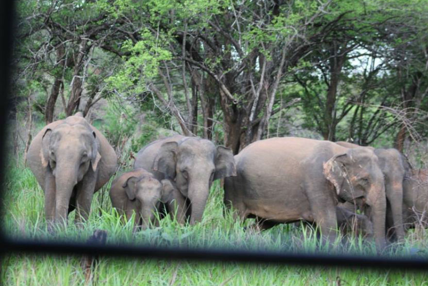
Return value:
<svg viewBox="0 0 428 286">
<path fill-rule="evenodd" d="M 379 247 L 385 244 L 386 198 L 378 157 L 368 148 L 347 149 L 324 164 L 339 199 L 364 206 Z"/>
</svg>

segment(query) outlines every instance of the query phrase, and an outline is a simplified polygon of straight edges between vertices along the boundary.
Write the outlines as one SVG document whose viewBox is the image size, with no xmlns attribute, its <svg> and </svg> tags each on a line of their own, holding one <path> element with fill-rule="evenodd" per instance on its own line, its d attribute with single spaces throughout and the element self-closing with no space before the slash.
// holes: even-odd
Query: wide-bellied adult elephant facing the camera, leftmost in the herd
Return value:
<svg viewBox="0 0 428 286">
<path fill-rule="evenodd" d="M 28 165 L 45 192 L 48 227 L 66 222 L 77 208 L 76 222 L 88 218 L 94 192 L 116 171 L 115 150 L 78 112 L 45 126 L 28 149 Z"/>
</svg>

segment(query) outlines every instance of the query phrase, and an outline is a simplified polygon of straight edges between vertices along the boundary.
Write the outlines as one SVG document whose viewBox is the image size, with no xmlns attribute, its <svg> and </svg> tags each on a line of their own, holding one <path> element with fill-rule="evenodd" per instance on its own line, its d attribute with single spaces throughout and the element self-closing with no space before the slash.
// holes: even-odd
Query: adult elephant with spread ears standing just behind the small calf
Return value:
<svg viewBox="0 0 428 286">
<path fill-rule="evenodd" d="M 232 151 L 205 139 L 174 135 L 143 147 L 134 168 L 152 172 L 158 180 L 175 181 L 182 198 L 177 212 L 190 207 L 190 223 L 200 222 L 214 180 L 236 175 Z"/>
</svg>

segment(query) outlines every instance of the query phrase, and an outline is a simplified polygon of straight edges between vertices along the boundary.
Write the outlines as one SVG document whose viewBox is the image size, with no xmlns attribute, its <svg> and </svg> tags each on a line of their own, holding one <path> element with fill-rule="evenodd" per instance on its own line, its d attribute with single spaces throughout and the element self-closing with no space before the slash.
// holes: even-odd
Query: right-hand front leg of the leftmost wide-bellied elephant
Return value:
<svg viewBox="0 0 428 286">
<path fill-rule="evenodd" d="M 81 224 L 89 217 L 91 210 L 92 197 L 94 196 L 95 184 L 97 182 L 96 174 L 89 169 L 83 180 L 76 186 L 76 224 Z"/>
</svg>

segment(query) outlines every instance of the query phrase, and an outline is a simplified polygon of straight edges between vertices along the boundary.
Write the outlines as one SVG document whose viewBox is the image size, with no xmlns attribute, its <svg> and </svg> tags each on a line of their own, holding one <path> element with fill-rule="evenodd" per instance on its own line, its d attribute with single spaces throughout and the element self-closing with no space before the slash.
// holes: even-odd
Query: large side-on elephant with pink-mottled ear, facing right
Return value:
<svg viewBox="0 0 428 286">
<path fill-rule="evenodd" d="M 385 244 L 385 187 L 378 158 L 367 148 L 329 141 L 271 138 L 251 143 L 235 156 L 237 176 L 225 179 L 225 204 L 261 227 L 315 222 L 324 238 L 336 238 L 336 205 L 364 205 L 379 247 Z"/>
</svg>

